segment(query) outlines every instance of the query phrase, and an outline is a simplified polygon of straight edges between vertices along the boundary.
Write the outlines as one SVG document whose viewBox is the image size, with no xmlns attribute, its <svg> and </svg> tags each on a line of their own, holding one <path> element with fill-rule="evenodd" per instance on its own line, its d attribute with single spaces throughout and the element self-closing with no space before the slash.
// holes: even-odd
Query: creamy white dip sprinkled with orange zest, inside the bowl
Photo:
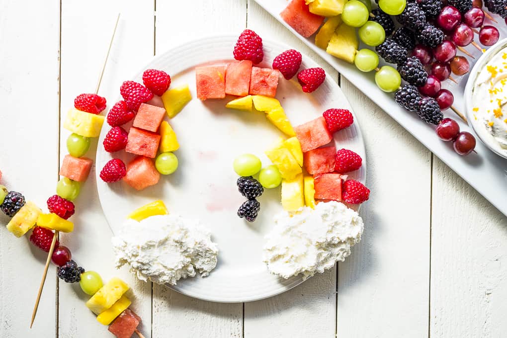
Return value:
<svg viewBox="0 0 507 338">
<path fill-rule="evenodd" d="M 472 94 L 474 127 L 481 139 L 507 154 L 507 48 L 480 70 Z"/>
</svg>

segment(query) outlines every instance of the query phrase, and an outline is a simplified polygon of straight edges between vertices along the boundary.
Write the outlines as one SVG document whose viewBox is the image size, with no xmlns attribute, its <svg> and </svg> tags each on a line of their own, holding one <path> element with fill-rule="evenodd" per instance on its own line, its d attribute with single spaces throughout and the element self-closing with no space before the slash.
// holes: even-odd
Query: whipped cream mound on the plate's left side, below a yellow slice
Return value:
<svg viewBox="0 0 507 338">
<path fill-rule="evenodd" d="M 112 242 L 117 268 L 127 265 L 140 280 L 157 284 L 176 285 L 196 270 L 207 276 L 219 251 L 208 227 L 173 214 L 127 219 Z"/>
</svg>

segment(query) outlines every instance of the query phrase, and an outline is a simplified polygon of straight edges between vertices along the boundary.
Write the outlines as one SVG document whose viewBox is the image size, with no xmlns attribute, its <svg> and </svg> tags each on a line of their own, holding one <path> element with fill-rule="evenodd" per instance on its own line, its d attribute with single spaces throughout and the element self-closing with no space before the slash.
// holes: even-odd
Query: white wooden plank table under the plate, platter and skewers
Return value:
<svg viewBox="0 0 507 338">
<path fill-rule="evenodd" d="M 0 0 L 3 184 L 39 205 L 54 194 L 68 135 L 60 116 L 76 95 L 94 91 L 118 12 L 99 92 L 108 103 L 154 53 L 249 27 L 311 55 L 338 81 L 363 127 L 372 190 L 361 209 L 363 240 L 344 264 L 264 301 L 215 304 L 115 270 L 90 174 L 76 230 L 61 242 L 86 269 L 130 283 L 146 337 L 505 336 L 505 216 L 250 0 Z M 59 282 L 54 267 L 28 328 L 44 261 L 26 237 L 0 229 L 0 336 L 110 337 L 79 285 Z"/>
</svg>

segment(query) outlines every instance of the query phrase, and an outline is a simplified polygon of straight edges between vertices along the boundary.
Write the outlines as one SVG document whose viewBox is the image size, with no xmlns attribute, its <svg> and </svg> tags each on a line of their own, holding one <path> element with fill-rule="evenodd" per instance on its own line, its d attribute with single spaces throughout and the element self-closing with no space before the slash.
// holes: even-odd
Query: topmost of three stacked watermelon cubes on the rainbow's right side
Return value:
<svg viewBox="0 0 507 338">
<path fill-rule="evenodd" d="M 304 153 L 328 144 L 333 139 L 333 135 L 329 132 L 325 119 L 322 116 L 297 126 L 294 128 L 294 131 L 301 143 L 301 150 Z"/>
</svg>

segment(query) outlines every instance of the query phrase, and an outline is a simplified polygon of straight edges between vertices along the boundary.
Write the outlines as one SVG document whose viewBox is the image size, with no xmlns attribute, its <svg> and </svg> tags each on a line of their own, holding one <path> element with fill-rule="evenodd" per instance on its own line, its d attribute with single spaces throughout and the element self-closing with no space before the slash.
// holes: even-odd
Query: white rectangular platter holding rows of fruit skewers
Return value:
<svg viewBox="0 0 507 338">
<path fill-rule="evenodd" d="M 287 0 L 255 0 L 260 6 L 268 11 L 273 17 L 281 22 L 288 30 L 292 31 L 299 39 L 308 45 L 315 53 L 337 69 L 348 81 L 354 84 L 360 91 L 370 97 L 394 120 L 407 129 L 415 138 L 423 143 L 433 154 L 438 156 L 451 169 L 459 174 L 465 181 L 472 185 L 481 195 L 491 202 L 504 215 L 507 215 L 507 160 L 500 158 L 491 152 L 480 140 L 477 140 L 477 154 L 468 156 L 459 156 L 452 148 L 452 142 L 444 142 L 440 140 L 434 128 L 422 122 L 417 115 L 401 108 L 394 102 L 392 94 L 384 93 L 378 89 L 374 80 L 374 72 L 363 73 L 355 68 L 353 64 L 344 62 L 336 57 L 327 54 L 324 50 L 318 48 L 314 43 L 314 35 L 308 39 L 298 34 L 291 26 L 287 25 L 280 17 L 280 12 L 287 6 Z M 496 27 L 500 30 L 500 39 L 507 37 L 507 28 L 503 23 L 503 19 L 498 19 Z M 269 36 L 262 36 L 269 40 Z M 477 40 L 477 39 L 476 39 Z M 288 42 L 286 42 L 288 43 Z M 288 43 L 290 44 L 290 43 Z M 360 46 L 364 48 L 366 46 Z M 467 52 L 479 58 L 481 52 L 473 46 L 466 47 Z M 458 55 L 464 55 L 458 52 Z M 474 60 L 467 56 L 470 61 L 470 67 L 473 67 Z M 382 62 L 381 62 L 382 63 Z M 454 106 L 461 112 L 464 112 L 463 92 L 466 85 L 467 76 L 460 77 L 457 84 L 451 81 L 442 83 L 442 88 L 447 88 L 454 94 Z M 457 118 L 452 110 L 444 111 L 445 117 L 451 117 L 458 121 L 461 130 L 470 131 L 470 128 Z M 383 126 L 379 126 L 383 128 Z M 363 130 L 365 136 L 368 130 Z M 396 142 L 396 140 L 393 140 Z M 389 149 L 386 149 L 389 152 Z M 397 161 L 403 161 L 396 154 L 392 154 L 392 165 L 395 166 Z M 395 177 L 386 177 L 386 179 L 395 180 Z M 410 184 L 410 182 L 405 182 Z"/>
</svg>

